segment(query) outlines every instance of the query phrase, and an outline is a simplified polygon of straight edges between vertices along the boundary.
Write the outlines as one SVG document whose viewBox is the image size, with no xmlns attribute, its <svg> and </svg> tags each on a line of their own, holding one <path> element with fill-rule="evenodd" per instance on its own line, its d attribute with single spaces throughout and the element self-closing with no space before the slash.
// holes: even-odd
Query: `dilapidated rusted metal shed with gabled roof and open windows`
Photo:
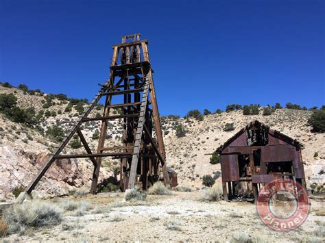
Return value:
<svg viewBox="0 0 325 243">
<path fill-rule="evenodd" d="M 303 144 L 258 120 L 228 139 L 215 151 L 220 156 L 224 199 L 241 199 L 274 179 L 296 180 L 306 188 Z"/>
</svg>

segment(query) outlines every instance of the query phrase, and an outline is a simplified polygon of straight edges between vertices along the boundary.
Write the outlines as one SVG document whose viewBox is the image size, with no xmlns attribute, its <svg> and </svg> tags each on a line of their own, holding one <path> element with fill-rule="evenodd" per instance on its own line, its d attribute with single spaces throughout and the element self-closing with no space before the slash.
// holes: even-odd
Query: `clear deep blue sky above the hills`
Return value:
<svg viewBox="0 0 325 243">
<path fill-rule="evenodd" d="M 161 114 L 325 103 L 324 0 L 0 0 L 0 81 L 93 99 L 112 44 L 149 39 Z"/>
</svg>

